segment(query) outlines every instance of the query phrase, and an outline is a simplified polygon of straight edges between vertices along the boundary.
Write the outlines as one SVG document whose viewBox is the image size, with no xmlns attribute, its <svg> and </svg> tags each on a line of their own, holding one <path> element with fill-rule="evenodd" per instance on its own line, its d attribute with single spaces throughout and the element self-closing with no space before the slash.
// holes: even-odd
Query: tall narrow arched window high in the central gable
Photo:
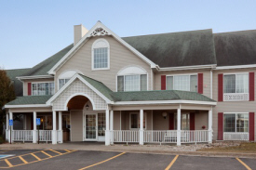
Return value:
<svg viewBox="0 0 256 170">
<path fill-rule="evenodd" d="M 100 38 L 91 46 L 92 70 L 110 69 L 110 46 L 107 40 Z"/>
</svg>

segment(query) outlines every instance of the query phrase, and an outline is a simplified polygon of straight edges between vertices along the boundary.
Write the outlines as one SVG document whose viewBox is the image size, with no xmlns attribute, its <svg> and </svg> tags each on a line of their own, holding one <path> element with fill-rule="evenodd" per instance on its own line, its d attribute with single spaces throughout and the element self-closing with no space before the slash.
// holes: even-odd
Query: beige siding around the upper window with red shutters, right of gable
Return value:
<svg viewBox="0 0 256 170">
<path fill-rule="evenodd" d="M 209 70 L 197 70 L 197 71 L 180 71 L 180 72 L 155 72 L 155 90 L 161 90 L 161 75 L 180 75 L 180 74 L 193 74 L 203 73 L 203 95 L 210 98 L 210 71 Z"/>
</svg>

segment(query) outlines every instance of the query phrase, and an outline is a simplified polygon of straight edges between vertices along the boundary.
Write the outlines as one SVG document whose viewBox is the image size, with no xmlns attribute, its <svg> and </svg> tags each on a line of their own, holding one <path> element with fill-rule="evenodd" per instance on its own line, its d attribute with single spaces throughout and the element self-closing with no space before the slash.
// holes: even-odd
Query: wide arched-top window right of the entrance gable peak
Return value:
<svg viewBox="0 0 256 170">
<path fill-rule="evenodd" d="M 146 91 L 147 72 L 138 66 L 127 67 L 117 73 L 117 91 Z"/>
</svg>

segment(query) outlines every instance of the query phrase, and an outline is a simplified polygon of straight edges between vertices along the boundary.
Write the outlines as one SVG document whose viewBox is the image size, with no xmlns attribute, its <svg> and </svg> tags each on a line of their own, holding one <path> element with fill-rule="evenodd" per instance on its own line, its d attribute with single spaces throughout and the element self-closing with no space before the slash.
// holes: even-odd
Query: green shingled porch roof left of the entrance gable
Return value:
<svg viewBox="0 0 256 170">
<path fill-rule="evenodd" d="M 26 105 L 26 104 L 46 104 L 47 100 L 52 96 L 24 96 L 16 98 L 6 105 Z"/>
</svg>

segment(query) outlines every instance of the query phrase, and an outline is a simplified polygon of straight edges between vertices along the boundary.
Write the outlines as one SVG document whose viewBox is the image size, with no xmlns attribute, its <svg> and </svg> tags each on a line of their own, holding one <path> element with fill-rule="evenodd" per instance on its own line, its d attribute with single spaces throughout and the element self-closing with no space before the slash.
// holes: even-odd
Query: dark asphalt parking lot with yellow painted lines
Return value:
<svg viewBox="0 0 256 170">
<path fill-rule="evenodd" d="M 256 170 L 255 159 L 86 150 L 0 150 L 0 169 Z"/>
</svg>

